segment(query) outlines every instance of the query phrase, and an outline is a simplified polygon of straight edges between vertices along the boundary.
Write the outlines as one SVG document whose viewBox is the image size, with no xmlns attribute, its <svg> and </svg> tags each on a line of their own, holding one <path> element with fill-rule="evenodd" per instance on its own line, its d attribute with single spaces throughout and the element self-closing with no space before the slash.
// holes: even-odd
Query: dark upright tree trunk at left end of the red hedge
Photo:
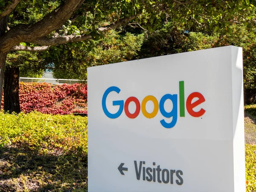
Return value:
<svg viewBox="0 0 256 192">
<path fill-rule="evenodd" d="M 20 113 L 19 78 L 19 67 L 6 67 L 3 88 L 3 109 L 8 113 Z"/>
</svg>

